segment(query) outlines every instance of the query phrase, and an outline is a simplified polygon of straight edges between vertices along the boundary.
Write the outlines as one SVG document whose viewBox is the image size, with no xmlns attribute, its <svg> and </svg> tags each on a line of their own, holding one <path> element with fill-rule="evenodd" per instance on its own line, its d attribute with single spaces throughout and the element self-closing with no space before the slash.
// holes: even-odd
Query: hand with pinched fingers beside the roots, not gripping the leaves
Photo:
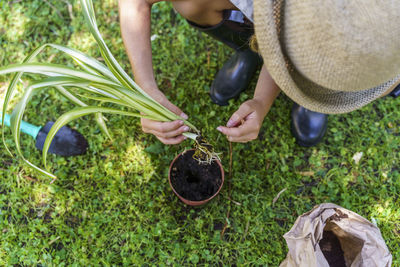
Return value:
<svg viewBox="0 0 400 267">
<path fill-rule="evenodd" d="M 269 111 L 262 101 L 251 99 L 240 105 L 225 126 L 217 130 L 231 142 L 246 143 L 257 138 L 262 122 Z"/>
</svg>

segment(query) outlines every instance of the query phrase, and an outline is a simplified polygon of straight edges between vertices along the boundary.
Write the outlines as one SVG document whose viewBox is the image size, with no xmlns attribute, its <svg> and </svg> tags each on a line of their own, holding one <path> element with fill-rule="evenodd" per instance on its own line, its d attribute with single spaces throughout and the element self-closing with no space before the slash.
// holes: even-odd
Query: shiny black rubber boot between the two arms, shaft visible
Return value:
<svg viewBox="0 0 400 267">
<path fill-rule="evenodd" d="M 249 39 L 254 34 L 253 23 L 237 10 L 224 10 L 222 21 L 212 27 L 188 23 L 236 50 L 218 71 L 210 91 L 214 103 L 228 105 L 229 99 L 237 97 L 249 86 L 262 64 L 261 57 L 249 47 Z"/>
</svg>

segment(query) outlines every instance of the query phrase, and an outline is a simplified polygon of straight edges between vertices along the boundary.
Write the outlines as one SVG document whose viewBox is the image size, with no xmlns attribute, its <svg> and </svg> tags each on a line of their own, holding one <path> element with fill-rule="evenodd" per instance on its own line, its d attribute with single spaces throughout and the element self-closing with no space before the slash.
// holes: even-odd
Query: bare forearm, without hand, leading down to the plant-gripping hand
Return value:
<svg viewBox="0 0 400 267">
<path fill-rule="evenodd" d="M 148 92 L 158 90 L 150 43 L 151 5 L 146 0 L 119 0 L 121 34 L 133 75 L 136 83 Z"/>
</svg>

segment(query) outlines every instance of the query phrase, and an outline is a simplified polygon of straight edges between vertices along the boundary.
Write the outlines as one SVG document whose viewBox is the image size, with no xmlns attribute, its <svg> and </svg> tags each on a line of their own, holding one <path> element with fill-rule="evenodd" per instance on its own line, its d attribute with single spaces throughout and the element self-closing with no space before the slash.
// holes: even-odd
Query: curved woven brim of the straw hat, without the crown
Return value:
<svg viewBox="0 0 400 267">
<path fill-rule="evenodd" d="M 400 75 L 376 87 L 343 92 L 325 88 L 301 75 L 285 56 L 282 43 L 283 0 L 254 0 L 254 25 L 264 64 L 280 89 L 312 111 L 338 114 L 359 109 L 400 83 Z M 327 73 L 329 75 L 329 73 Z"/>
</svg>

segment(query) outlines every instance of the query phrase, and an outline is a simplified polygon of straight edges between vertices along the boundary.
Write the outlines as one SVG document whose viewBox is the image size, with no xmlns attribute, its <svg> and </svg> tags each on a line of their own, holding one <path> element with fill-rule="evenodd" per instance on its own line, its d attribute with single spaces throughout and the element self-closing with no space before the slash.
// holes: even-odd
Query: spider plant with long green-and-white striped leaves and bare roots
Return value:
<svg viewBox="0 0 400 267">
<path fill-rule="evenodd" d="M 110 137 L 110 134 L 102 114 L 144 117 L 157 121 L 182 120 L 181 117 L 165 108 L 142 90 L 118 64 L 101 37 L 96 23 L 92 0 L 81 0 L 81 5 L 85 20 L 99 46 L 100 53 L 106 65 L 76 49 L 57 44 L 44 44 L 31 52 L 21 64 L 0 68 L 0 75 L 15 73 L 6 91 L 1 119 L 3 144 L 10 155 L 13 154 L 7 147 L 4 137 L 4 116 L 14 95 L 16 85 L 25 73 L 37 75 L 41 78 L 38 82 L 34 82 L 25 88 L 22 98 L 14 107 L 11 114 L 11 131 L 17 155 L 29 166 L 53 179 L 56 177 L 48 170 L 46 164 L 46 157 L 51 141 L 62 126 L 77 118 L 90 114 L 94 115 L 97 124 L 108 137 Z M 76 67 L 70 68 L 58 64 L 33 62 L 35 57 L 46 48 L 56 49 L 59 52 L 67 54 L 72 58 Z M 24 158 L 20 146 L 20 125 L 25 108 L 31 97 L 39 91 L 48 88 L 55 88 L 57 92 L 78 105 L 78 107 L 62 114 L 49 131 L 42 151 L 43 165 L 46 169 L 44 170 Z M 85 99 L 86 101 L 90 100 L 91 103 L 96 103 L 96 105 L 86 104 Z M 103 103 L 114 104 L 113 106 L 117 108 L 103 107 Z M 128 111 L 118 109 L 118 107 L 128 108 Z M 208 144 L 205 145 L 200 138 L 199 130 L 187 120 L 184 120 L 184 123 L 191 129 L 190 132 L 184 133 L 184 135 L 195 140 L 199 160 L 210 162 L 217 158 L 218 156 L 213 152 L 212 148 Z"/>
</svg>

